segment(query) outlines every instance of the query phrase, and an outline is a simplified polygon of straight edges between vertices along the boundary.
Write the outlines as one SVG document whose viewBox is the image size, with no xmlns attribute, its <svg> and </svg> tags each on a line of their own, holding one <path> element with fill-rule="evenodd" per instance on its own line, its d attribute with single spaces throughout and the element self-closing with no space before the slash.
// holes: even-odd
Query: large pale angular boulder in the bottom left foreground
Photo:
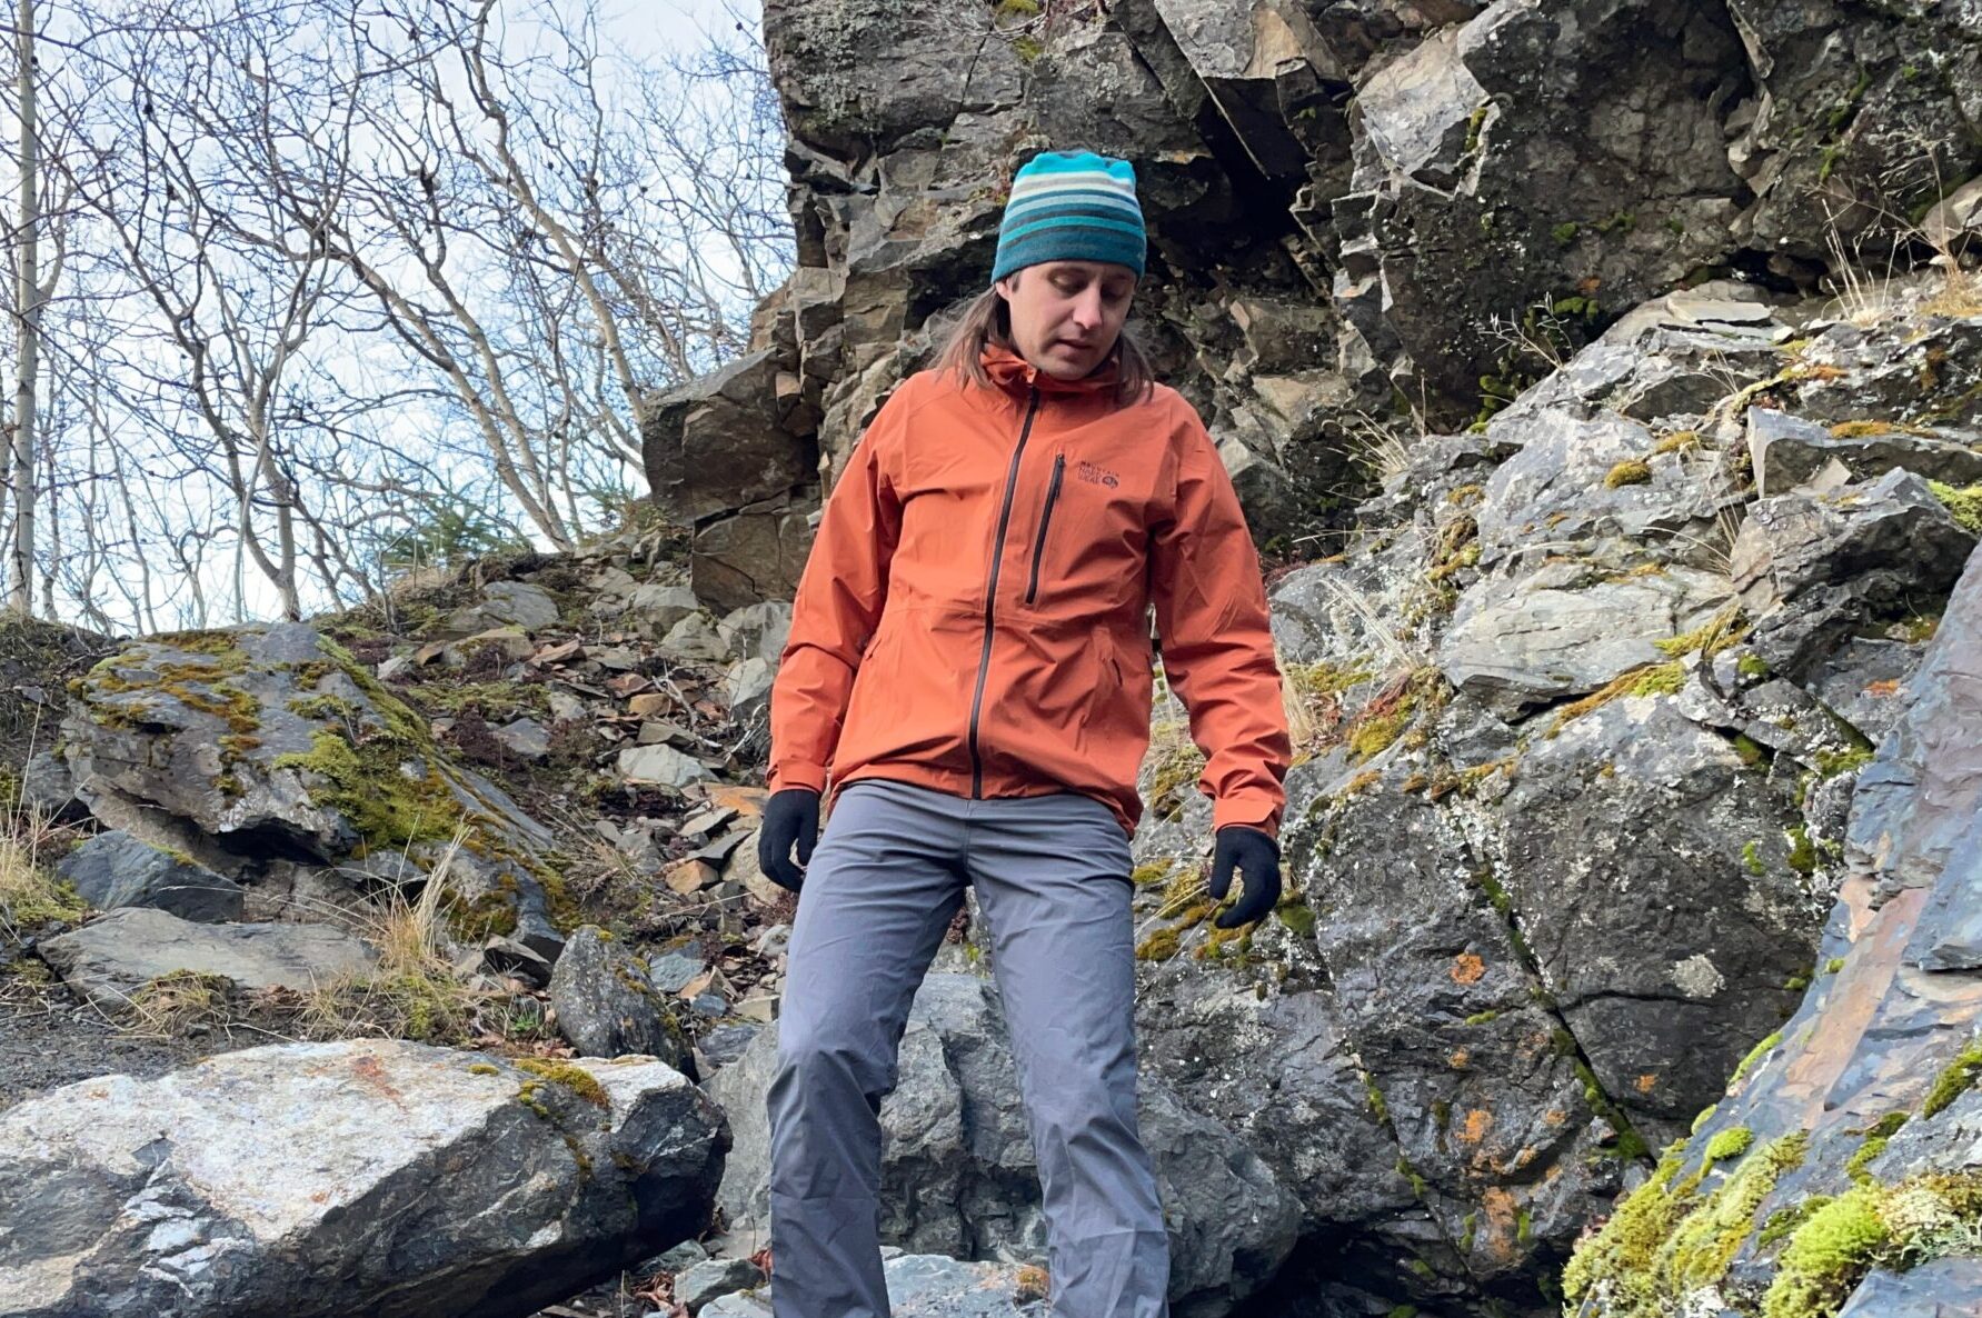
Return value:
<svg viewBox="0 0 1982 1318">
<path fill-rule="evenodd" d="M 410 1043 L 101 1076 L 0 1116 L 20 1318 L 521 1318 L 708 1223 L 721 1114 L 658 1062 L 579 1082 Z"/>
</svg>

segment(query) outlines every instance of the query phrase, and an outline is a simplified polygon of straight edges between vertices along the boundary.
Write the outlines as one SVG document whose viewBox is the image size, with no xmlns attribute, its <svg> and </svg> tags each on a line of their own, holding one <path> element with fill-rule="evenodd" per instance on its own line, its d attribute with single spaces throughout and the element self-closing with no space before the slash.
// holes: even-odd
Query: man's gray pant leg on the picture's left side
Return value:
<svg viewBox="0 0 1982 1318">
<path fill-rule="evenodd" d="M 880 1102 L 908 1009 L 963 902 L 961 799 L 852 783 L 799 894 L 771 1114 L 777 1318 L 888 1318 Z"/>
</svg>

